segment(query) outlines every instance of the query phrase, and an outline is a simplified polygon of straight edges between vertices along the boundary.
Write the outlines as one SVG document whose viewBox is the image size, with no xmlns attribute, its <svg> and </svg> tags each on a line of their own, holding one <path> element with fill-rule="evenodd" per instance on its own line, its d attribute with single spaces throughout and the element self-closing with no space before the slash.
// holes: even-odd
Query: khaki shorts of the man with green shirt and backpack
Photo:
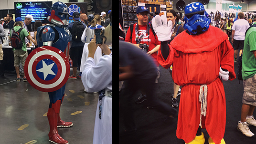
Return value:
<svg viewBox="0 0 256 144">
<path fill-rule="evenodd" d="M 14 67 L 20 67 L 20 62 L 22 67 L 25 65 L 25 61 L 28 57 L 28 52 L 23 51 L 22 49 L 16 49 L 13 51 L 14 54 Z"/>
</svg>

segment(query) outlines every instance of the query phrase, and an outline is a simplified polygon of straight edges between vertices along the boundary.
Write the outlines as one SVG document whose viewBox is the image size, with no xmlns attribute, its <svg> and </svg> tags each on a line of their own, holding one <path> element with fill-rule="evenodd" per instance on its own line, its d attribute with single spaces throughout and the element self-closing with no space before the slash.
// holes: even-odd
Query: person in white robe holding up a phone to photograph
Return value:
<svg viewBox="0 0 256 144">
<path fill-rule="evenodd" d="M 93 144 L 112 144 L 112 13 L 110 24 L 104 30 L 103 44 L 96 45 L 96 36 L 88 44 L 88 58 L 84 63 L 82 82 L 88 92 L 103 91 L 96 110 Z M 96 48 L 105 54 L 95 63 Z"/>
</svg>

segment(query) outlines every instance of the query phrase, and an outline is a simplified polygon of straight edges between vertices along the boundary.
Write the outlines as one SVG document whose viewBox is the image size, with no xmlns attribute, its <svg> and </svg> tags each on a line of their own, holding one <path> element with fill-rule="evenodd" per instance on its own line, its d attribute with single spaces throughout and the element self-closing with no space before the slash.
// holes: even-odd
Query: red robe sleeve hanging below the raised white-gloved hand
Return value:
<svg viewBox="0 0 256 144">
<path fill-rule="evenodd" d="M 171 48 L 171 45 L 168 44 L 168 46 L 169 46 L 169 56 L 166 60 L 162 56 L 161 46 L 158 50 L 158 56 L 157 56 L 157 60 L 158 60 L 159 64 L 166 69 L 171 67 L 171 65 L 173 63 L 173 58 L 174 58 L 174 49 Z"/>
</svg>

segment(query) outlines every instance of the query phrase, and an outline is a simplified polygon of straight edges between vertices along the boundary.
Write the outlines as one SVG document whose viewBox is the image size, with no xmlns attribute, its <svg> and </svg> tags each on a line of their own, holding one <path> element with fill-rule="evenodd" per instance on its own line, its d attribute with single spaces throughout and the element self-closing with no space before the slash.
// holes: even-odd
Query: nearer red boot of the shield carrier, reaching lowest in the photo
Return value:
<svg viewBox="0 0 256 144">
<path fill-rule="evenodd" d="M 50 132 L 48 134 L 49 141 L 53 144 L 68 144 L 68 141 L 64 140 L 57 130 L 58 115 L 60 112 L 61 100 L 57 100 L 52 107 L 48 109 L 47 118 L 50 125 Z"/>
</svg>

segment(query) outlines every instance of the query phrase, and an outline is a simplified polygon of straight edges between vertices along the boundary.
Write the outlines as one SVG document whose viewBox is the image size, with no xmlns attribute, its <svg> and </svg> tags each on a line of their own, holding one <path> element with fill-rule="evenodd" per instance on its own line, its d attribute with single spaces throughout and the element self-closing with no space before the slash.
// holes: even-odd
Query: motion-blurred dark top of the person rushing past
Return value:
<svg viewBox="0 0 256 144">
<path fill-rule="evenodd" d="M 152 58 L 128 42 L 119 41 L 119 66 L 131 66 L 138 78 L 157 76 L 157 67 Z"/>
</svg>

